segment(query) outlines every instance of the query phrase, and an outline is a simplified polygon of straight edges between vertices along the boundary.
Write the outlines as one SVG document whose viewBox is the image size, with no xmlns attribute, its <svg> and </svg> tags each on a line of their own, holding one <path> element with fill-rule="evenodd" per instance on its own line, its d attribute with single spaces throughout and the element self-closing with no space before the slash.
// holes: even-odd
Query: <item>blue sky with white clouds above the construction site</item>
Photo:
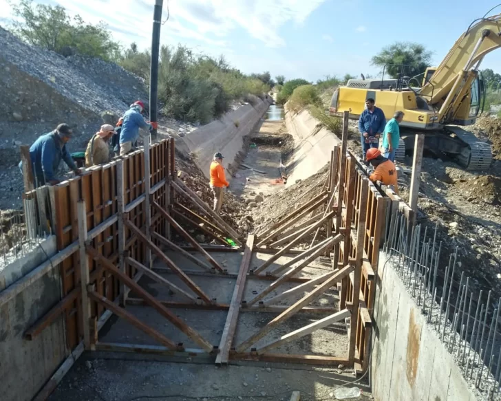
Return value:
<svg viewBox="0 0 501 401">
<path fill-rule="evenodd" d="M 9 1 L 0 0 L 0 25 L 12 18 Z M 13 0 L 15 1 L 15 0 Z M 114 39 L 140 49 L 151 45 L 155 0 L 35 0 L 60 4 L 89 23 L 105 21 Z M 374 54 L 395 41 L 412 41 L 433 52 L 438 65 L 473 19 L 495 1 L 422 0 L 164 0 L 162 45 L 186 45 L 219 56 L 242 72 L 305 78 L 379 74 Z M 169 19 L 167 20 L 167 10 Z M 495 12 L 500 13 L 501 7 Z M 501 50 L 481 68 L 501 72 Z"/>
</svg>

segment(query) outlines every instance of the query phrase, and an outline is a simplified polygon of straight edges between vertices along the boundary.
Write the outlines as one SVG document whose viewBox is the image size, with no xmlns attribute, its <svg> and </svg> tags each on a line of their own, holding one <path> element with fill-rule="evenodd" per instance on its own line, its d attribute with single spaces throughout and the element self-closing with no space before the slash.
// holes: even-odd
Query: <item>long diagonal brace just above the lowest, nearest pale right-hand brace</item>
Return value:
<svg viewBox="0 0 501 401">
<path fill-rule="evenodd" d="M 242 344 L 237 346 L 237 351 L 242 352 L 245 351 L 248 347 L 251 347 L 251 345 L 257 343 L 261 338 L 266 336 L 272 329 L 277 327 L 280 323 L 284 323 L 284 321 L 288 320 L 288 318 L 294 316 L 301 310 L 303 306 L 308 305 L 311 301 L 314 301 L 317 299 L 323 292 L 328 290 L 328 288 L 332 287 L 334 283 L 337 283 L 339 279 L 345 277 L 346 275 L 350 274 L 354 268 L 350 265 L 346 266 L 345 268 L 338 270 L 337 274 L 334 274 L 334 276 L 330 277 L 327 281 L 324 281 L 319 285 L 315 290 L 312 290 L 312 292 L 306 294 L 301 298 L 299 301 L 288 307 L 287 310 L 279 314 L 279 316 L 275 317 L 272 321 L 270 321 L 266 326 L 264 326 L 259 332 L 253 334 L 251 337 L 247 338 Z"/>
</svg>

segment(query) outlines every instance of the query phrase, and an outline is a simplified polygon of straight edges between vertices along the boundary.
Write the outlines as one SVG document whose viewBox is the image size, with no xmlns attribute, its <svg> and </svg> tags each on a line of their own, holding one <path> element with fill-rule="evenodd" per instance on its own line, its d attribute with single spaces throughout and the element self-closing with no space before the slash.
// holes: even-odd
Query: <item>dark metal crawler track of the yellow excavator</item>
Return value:
<svg viewBox="0 0 501 401">
<path fill-rule="evenodd" d="M 492 162 L 491 145 L 479 140 L 473 133 L 461 127 L 447 126 L 447 129 L 468 145 L 456 158 L 458 164 L 467 170 L 487 170 Z"/>
</svg>

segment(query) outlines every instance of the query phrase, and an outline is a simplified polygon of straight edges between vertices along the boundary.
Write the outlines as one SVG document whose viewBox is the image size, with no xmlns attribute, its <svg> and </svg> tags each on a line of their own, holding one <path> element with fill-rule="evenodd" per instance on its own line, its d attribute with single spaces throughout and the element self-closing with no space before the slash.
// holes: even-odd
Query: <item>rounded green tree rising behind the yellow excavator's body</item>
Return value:
<svg viewBox="0 0 501 401">
<path fill-rule="evenodd" d="M 432 54 L 419 43 L 396 42 L 383 47 L 379 54 L 373 56 L 372 65 L 381 69 L 386 66 L 385 74 L 389 74 L 392 78 L 398 78 L 398 74 L 401 72 L 401 67 L 398 65 L 407 65 L 405 74 L 415 76 L 425 72 L 426 68 L 429 67 Z"/>
</svg>

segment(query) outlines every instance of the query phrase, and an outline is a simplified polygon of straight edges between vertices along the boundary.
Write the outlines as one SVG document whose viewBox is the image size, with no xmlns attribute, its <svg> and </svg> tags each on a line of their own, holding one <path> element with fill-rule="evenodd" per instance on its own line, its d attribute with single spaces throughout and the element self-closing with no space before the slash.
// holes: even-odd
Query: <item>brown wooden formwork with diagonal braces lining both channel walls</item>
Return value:
<svg viewBox="0 0 501 401">
<path fill-rule="evenodd" d="M 229 360 L 262 360 L 319 365 L 343 363 L 359 368 L 357 370 L 366 369 L 379 248 L 394 210 L 407 210 L 408 207 L 406 209 L 391 190 L 376 186 L 367 179 L 364 166 L 347 149 L 347 138 L 348 116 L 345 116 L 343 141 L 332 150 L 330 173 L 323 188 L 266 232 L 256 237 L 249 236 L 246 243 L 241 243 L 235 230 L 178 179 L 173 140 L 146 144 L 144 150 L 89 169 L 81 177 L 43 191 L 27 193 L 28 199 L 36 201 L 39 213 L 47 213 L 40 221 L 47 221 L 49 230 L 56 235 L 59 252 L 53 260 L 57 261 L 56 268 L 61 272 L 63 292 L 61 301 L 25 332 L 25 338 L 34 338 L 64 314 L 70 349 L 83 341 L 85 349 L 91 350 L 144 350 L 139 345 L 99 342 L 98 321 L 107 310 L 156 339 L 162 347 L 153 351 L 169 355 L 188 351 L 182 344 L 173 343 L 139 321 L 126 308 L 127 305 L 149 305 L 200 347 L 190 349 L 191 354 L 209 355 L 217 364 L 224 365 Z M 412 211 L 407 210 L 407 213 Z M 204 233 L 220 245 L 200 246 L 184 224 L 198 229 L 202 229 L 202 224 Z M 322 228 L 325 230 L 321 231 Z M 174 243 L 173 231 L 189 243 L 189 247 Z M 308 249 L 295 249 L 310 235 L 314 239 Z M 209 253 L 238 250 L 228 247 L 226 238 L 234 239 L 244 250 L 239 271 L 234 276 L 228 274 Z M 163 248 L 178 252 L 203 271 L 181 270 L 167 257 Z M 190 250 L 200 252 L 203 258 L 193 257 L 188 252 Z M 251 269 L 253 252 L 273 255 Z M 293 258 L 284 265 L 271 268 L 271 263 L 284 255 L 293 255 Z M 330 272 L 311 279 L 296 277 L 308 263 L 325 255 L 332 260 Z M 158 268 L 152 270 L 154 257 L 164 263 L 164 270 L 176 274 L 187 290 L 158 274 Z M 181 294 L 185 301 L 175 303 L 155 299 L 137 283 L 143 274 Z M 237 279 L 230 304 L 216 303 L 195 285 L 191 277 L 203 274 Z M 270 285 L 253 299 L 244 300 L 246 281 L 251 274 L 257 279 L 270 281 Z M 270 298 L 270 293 L 286 282 L 297 285 Z M 309 306 L 311 301 L 332 287 L 339 289 L 337 310 Z M 129 299 L 130 290 L 139 298 Z M 296 301 L 288 307 L 276 304 L 294 297 Z M 175 316 L 170 307 L 227 310 L 220 344 L 208 343 Z M 237 320 L 242 310 L 276 312 L 277 316 L 242 343 L 235 344 Z M 301 312 L 326 316 L 266 345 L 256 345 L 277 325 Z M 343 358 L 270 352 L 279 345 L 345 318 L 350 318 L 350 330 L 348 353 Z"/>
</svg>

